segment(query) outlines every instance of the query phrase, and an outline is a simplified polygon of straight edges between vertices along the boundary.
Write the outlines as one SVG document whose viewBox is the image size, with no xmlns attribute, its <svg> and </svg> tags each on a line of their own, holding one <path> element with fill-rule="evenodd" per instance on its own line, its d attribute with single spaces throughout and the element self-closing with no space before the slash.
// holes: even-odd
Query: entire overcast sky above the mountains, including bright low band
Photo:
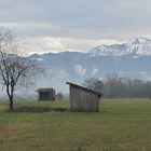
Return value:
<svg viewBox="0 0 151 151">
<path fill-rule="evenodd" d="M 0 0 L 0 26 L 33 53 L 151 38 L 151 0 Z"/>
</svg>

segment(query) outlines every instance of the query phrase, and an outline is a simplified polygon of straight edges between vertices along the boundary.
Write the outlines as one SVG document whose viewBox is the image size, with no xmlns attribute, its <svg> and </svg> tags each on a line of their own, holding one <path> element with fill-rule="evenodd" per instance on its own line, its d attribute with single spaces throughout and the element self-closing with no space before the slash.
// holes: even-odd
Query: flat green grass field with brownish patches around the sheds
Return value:
<svg viewBox="0 0 151 151">
<path fill-rule="evenodd" d="M 67 101 L 16 106 L 69 107 Z M 9 113 L 0 101 L 0 151 L 151 151 L 151 100 L 101 100 L 98 113 Z"/>
</svg>

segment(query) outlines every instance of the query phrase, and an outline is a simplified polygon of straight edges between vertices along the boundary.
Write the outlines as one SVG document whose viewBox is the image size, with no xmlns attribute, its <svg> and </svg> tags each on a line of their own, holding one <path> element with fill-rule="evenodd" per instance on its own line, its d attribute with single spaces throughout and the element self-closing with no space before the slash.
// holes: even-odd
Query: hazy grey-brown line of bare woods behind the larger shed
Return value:
<svg viewBox="0 0 151 151">
<path fill-rule="evenodd" d="M 84 86 L 104 93 L 105 98 L 151 98 L 151 81 L 107 74 L 104 80 L 86 79 Z"/>
</svg>

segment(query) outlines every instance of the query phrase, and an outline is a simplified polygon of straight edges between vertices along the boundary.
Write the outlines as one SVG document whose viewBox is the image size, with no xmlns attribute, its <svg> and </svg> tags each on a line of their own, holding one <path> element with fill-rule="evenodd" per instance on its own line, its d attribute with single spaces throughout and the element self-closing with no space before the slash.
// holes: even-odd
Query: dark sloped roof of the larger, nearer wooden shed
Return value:
<svg viewBox="0 0 151 151">
<path fill-rule="evenodd" d="M 86 91 L 86 92 L 99 95 L 100 97 L 102 96 L 102 93 L 100 93 L 100 92 L 97 92 L 97 91 L 94 91 L 94 90 L 90 90 L 87 87 L 84 87 L 84 86 L 81 86 L 81 85 L 78 85 L 78 84 L 74 84 L 74 83 L 71 83 L 71 82 L 67 82 L 67 84 L 71 85 L 73 87 L 77 87 L 77 88 L 80 88 L 80 90 L 83 90 L 83 91 Z"/>
</svg>

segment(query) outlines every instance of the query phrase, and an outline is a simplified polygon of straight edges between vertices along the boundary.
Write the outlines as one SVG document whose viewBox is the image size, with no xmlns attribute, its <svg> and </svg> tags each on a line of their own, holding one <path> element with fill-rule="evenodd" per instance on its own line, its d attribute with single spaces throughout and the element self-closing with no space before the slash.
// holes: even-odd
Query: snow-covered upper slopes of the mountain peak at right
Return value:
<svg viewBox="0 0 151 151">
<path fill-rule="evenodd" d="M 92 56 L 123 56 L 133 55 L 134 57 L 151 55 L 151 40 L 146 38 L 133 38 L 122 44 L 100 45 L 93 49 Z"/>
</svg>

